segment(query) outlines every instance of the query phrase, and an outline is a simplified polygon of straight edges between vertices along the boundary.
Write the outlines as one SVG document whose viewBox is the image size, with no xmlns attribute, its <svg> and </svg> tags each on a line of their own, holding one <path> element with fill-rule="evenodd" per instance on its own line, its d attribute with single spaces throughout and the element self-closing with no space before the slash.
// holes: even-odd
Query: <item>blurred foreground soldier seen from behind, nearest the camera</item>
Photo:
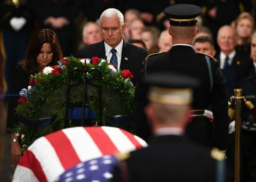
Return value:
<svg viewBox="0 0 256 182">
<path fill-rule="evenodd" d="M 148 147 L 121 160 L 113 181 L 224 181 L 225 154 L 195 144 L 184 135 L 192 88 L 199 81 L 170 72 L 149 73 L 145 81 L 150 85 L 145 112 L 154 137 Z"/>
</svg>

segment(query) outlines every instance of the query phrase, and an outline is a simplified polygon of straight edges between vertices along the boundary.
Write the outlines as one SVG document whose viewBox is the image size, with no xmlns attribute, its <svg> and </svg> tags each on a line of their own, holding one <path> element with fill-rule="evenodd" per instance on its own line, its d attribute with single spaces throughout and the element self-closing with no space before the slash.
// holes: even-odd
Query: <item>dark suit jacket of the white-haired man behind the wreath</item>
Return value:
<svg viewBox="0 0 256 182">
<path fill-rule="evenodd" d="M 132 79 L 133 84 L 136 84 L 139 71 L 142 68 L 143 61 L 145 60 L 147 55 L 148 52 L 145 49 L 123 42 L 120 69 L 129 69 L 132 72 L 132 75 L 134 76 Z M 76 57 L 79 58 L 91 58 L 93 56 L 97 56 L 100 58 L 106 57 L 103 41 L 100 43 L 85 46 L 80 49 L 76 54 Z M 127 60 L 125 59 L 125 57 L 127 58 Z"/>
</svg>

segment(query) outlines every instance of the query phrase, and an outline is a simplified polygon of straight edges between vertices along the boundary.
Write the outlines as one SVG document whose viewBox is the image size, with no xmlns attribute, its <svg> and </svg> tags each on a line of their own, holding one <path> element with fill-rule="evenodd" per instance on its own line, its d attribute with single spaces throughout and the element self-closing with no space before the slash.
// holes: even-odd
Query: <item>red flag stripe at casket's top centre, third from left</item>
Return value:
<svg viewBox="0 0 256 182">
<path fill-rule="evenodd" d="M 113 155 L 119 152 L 101 127 L 84 127 L 84 129 L 89 133 L 94 143 L 99 147 L 102 155 Z"/>
</svg>

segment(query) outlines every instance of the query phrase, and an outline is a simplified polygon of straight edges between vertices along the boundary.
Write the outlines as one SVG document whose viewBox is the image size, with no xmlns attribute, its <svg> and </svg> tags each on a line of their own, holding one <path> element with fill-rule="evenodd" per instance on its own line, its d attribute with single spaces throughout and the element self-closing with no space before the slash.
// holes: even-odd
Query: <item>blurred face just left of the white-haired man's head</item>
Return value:
<svg viewBox="0 0 256 182">
<path fill-rule="evenodd" d="M 102 41 L 100 26 L 96 23 L 87 24 L 84 27 L 83 42 L 87 45 L 99 43 Z"/>
</svg>

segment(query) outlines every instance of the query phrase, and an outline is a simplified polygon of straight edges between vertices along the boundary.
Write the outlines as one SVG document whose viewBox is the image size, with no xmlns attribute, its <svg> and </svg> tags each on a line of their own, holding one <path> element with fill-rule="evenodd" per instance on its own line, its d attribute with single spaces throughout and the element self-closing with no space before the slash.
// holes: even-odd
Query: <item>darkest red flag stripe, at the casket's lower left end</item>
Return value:
<svg viewBox="0 0 256 182">
<path fill-rule="evenodd" d="M 40 162 L 36 159 L 33 152 L 27 150 L 22 156 L 19 166 L 26 167 L 33 171 L 34 175 L 39 181 L 47 181 Z"/>
</svg>

